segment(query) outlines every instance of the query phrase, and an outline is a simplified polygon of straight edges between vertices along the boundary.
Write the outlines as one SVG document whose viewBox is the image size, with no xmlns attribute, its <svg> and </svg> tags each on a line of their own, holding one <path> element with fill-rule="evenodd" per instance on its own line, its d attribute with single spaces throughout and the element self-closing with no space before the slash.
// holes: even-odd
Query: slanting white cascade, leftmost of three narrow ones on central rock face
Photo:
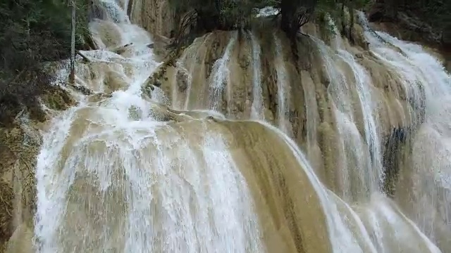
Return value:
<svg viewBox="0 0 451 253">
<path fill-rule="evenodd" d="M 223 53 L 223 56 L 216 60 L 213 65 L 213 69 L 211 70 L 211 74 L 209 77 L 210 82 L 210 109 L 221 111 L 219 107 L 219 103 L 222 100 L 223 91 L 228 87 L 228 80 L 230 71 L 228 69 L 228 63 L 230 61 L 230 54 L 235 47 L 235 44 L 238 39 L 238 33 L 234 31 L 230 37 L 230 40 L 226 46 L 226 50 Z M 227 101 L 230 105 L 230 93 L 227 94 Z"/>
</svg>

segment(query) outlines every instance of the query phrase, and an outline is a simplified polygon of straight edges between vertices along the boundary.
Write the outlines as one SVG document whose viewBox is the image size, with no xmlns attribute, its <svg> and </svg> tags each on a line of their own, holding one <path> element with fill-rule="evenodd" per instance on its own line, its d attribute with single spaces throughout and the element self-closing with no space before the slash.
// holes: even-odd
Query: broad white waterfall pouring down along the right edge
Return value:
<svg viewBox="0 0 451 253">
<path fill-rule="evenodd" d="M 443 252 L 451 250 L 451 76 L 438 59 L 417 44 L 373 32 L 359 13 L 373 53 L 403 77 L 416 119 L 412 133 L 412 167 L 400 171 L 396 200 L 421 231 Z M 396 49 L 397 50 L 396 50 Z M 408 175 L 404 176 L 403 175 Z M 408 192 L 408 193 L 406 193 Z"/>
</svg>

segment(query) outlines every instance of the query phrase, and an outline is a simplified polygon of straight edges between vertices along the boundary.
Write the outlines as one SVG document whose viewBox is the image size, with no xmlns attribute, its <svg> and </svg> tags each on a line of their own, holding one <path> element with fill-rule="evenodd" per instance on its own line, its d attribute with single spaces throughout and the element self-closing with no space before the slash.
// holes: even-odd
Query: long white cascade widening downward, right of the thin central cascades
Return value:
<svg viewBox="0 0 451 253">
<path fill-rule="evenodd" d="M 340 141 L 337 179 L 335 187 L 345 200 L 367 200 L 370 193 L 377 189 L 378 182 L 373 179 L 369 150 L 362 140 L 354 116 L 354 90 L 351 80 L 347 80 L 335 60 L 331 49 L 319 39 L 314 39 L 323 57 L 326 73 L 330 79 L 328 95 L 334 102 L 335 120 Z"/>
</svg>

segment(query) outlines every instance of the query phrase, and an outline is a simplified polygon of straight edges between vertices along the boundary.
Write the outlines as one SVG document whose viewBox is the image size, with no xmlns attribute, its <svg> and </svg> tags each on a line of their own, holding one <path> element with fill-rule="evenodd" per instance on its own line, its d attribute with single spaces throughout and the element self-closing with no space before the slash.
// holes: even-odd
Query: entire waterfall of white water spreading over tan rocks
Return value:
<svg viewBox="0 0 451 253">
<path fill-rule="evenodd" d="M 108 15 L 90 24 L 101 49 L 82 51 L 91 63 L 77 74 L 92 93 L 77 93 L 78 105 L 51 120 L 37 157 L 37 252 L 450 252 L 450 74 L 421 46 L 373 32 L 361 17 L 372 57 L 402 79 L 404 121 L 418 126 L 390 198 L 383 191 L 381 97 L 364 61 L 339 37 L 331 46 L 310 38 L 330 80 L 325 95 L 289 78 L 295 67 L 278 34 L 267 52 L 249 32 L 245 55 L 235 50 L 244 44 L 237 31 L 202 78 L 204 69 L 185 63 L 207 53 L 186 49 L 174 72 L 187 78 L 185 91 L 144 91 L 161 65 L 148 46 L 152 37 L 131 24 L 121 4 L 101 2 Z M 273 88 L 265 86 L 266 53 L 275 58 Z M 247 67 L 246 58 L 242 72 L 251 78 L 241 79 L 237 65 Z M 251 87 L 244 98 L 235 92 L 240 82 Z M 276 92 L 274 105 L 263 91 Z M 305 103 L 306 145 L 292 125 L 298 100 Z M 247 108 L 234 117 L 232 105 Z M 324 137 L 330 125 L 333 139 Z M 325 143 L 335 149 L 320 150 Z M 313 161 L 321 152 L 333 171 Z"/>
</svg>

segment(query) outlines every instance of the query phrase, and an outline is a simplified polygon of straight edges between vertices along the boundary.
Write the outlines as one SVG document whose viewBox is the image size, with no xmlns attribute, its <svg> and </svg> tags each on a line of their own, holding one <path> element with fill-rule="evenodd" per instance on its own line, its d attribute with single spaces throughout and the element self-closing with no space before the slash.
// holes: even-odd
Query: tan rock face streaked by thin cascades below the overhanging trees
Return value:
<svg viewBox="0 0 451 253">
<path fill-rule="evenodd" d="M 254 36 L 261 46 L 261 96 L 264 107 L 264 118 L 272 124 L 278 125 L 280 120 L 288 122 L 288 134 L 309 150 L 309 159 L 321 167 L 319 174 L 328 181 L 330 188 L 340 188 L 338 179 L 330 175 L 336 171 L 336 157 L 340 147 L 339 129 L 336 123 L 338 115 L 334 108 L 337 101 L 334 96 L 332 82 L 326 70 L 326 59 L 321 56 L 318 44 L 314 39 L 300 36 L 297 39 L 299 58 L 293 57 L 290 41 L 277 29 L 255 27 Z M 321 36 L 319 25 L 309 24 L 303 28 L 304 32 L 314 36 Z M 365 41 L 362 27 L 354 26 L 356 41 Z M 276 40 L 280 40 L 282 51 L 276 52 Z M 235 40 L 230 51 L 230 41 Z M 324 38 L 333 44 L 333 39 Z M 371 78 L 371 92 L 375 100 L 380 101 L 376 121 L 381 126 L 381 136 L 390 136 L 393 126 L 410 126 L 416 119 L 409 115 L 412 109 L 406 100 L 407 91 L 402 79 L 395 72 L 385 66 L 369 51 L 366 46 L 351 46 L 346 39 L 342 43 L 351 52 L 357 63 L 362 65 Z M 226 52 L 228 56 L 225 57 Z M 228 59 L 226 65 L 218 74 L 215 64 Z M 278 60 L 281 58 L 282 61 Z M 214 78 L 225 74 L 221 79 L 218 110 L 226 117 L 235 119 L 249 119 L 251 117 L 253 100 L 253 65 L 252 39 L 246 32 L 216 31 L 197 38 L 180 57 L 175 65 L 166 65 L 161 70 L 159 85 L 171 100 L 171 106 L 178 110 L 194 110 L 209 108 L 212 103 L 211 85 Z M 354 107 L 354 115 L 358 131 L 364 133 L 362 109 L 359 108 L 357 95 L 357 81 L 353 70 L 344 61 L 338 59 L 334 63 L 345 74 L 350 89 L 349 103 Z M 278 76 L 278 68 L 283 67 L 284 76 Z M 222 76 L 221 76 L 222 77 Z M 332 79 L 331 79 L 332 78 Z M 286 110 L 280 114 L 281 100 L 278 99 L 280 82 L 285 82 L 285 93 L 288 93 Z M 216 85 L 216 84 L 215 84 Z M 340 99 L 340 98 L 337 98 Z M 310 139 L 309 139 L 309 136 Z"/>
</svg>

